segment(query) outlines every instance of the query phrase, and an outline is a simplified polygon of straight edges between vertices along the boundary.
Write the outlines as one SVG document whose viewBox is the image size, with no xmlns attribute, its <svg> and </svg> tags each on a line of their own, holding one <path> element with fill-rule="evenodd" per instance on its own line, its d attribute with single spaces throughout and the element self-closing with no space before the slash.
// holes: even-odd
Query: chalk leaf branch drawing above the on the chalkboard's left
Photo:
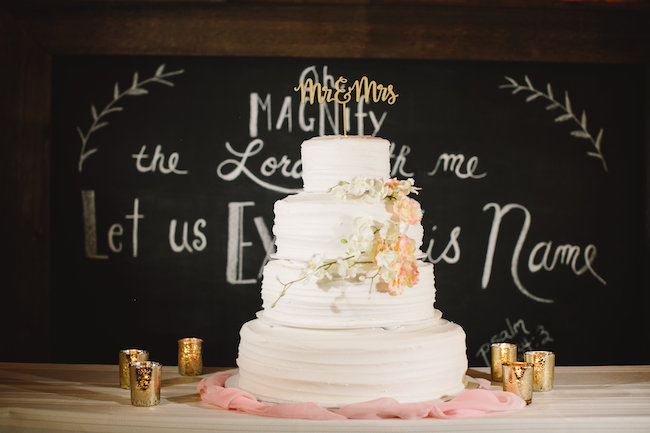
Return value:
<svg viewBox="0 0 650 433">
<path fill-rule="evenodd" d="M 97 152 L 96 147 L 92 149 L 87 148 L 88 140 L 90 139 L 92 133 L 108 125 L 108 122 L 104 119 L 108 114 L 124 110 L 124 107 L 120 107 L 116 105 L 118 101 L 120 101 L 125 96 L 140 96 L 140 95 L 148 94 L 149 91 L 145 89 L 144 86 L 150 83 L 160 83 L 166 86 L 174 87 L 174 83 L 167 80 L 167 78 L 173 77 L 174 75 L 180 75 L 184 72 L 185 71 L 183 69 L 179 69 L 177 71 L 165 72 L 165 64 L 162 64 L 158 66 L 158 69 L 156 69 L 156 73 L 153 75 L 153 77 L 147 78 L 142 81 L 139 81 L 138 73 L 135 72 L 133 74 L 133 81 L 131 83 L 131 87 L 129 87 L 128 89 L 120 92 L 119 84 L 117 82 L 115 83 L 115 86 L 113 87 L 113 100 L 109 102 L 101 111 L 97 111 L 95 105 L 91 104 L 90 114 L 93 118 L 93 122 L 90 124 L 88 131 L 84 133 L 81 130 L 81 128 L 77 127 L 77 132 L 79 133 L 79 138 L 81 139 L 81 153 L 79 155 L 79 172 L 81 173 L 81 171 L 83 170 L 83 163 L 86 160 L 86 158 L 88 158 L 93 153 Z"/>
</svg>

